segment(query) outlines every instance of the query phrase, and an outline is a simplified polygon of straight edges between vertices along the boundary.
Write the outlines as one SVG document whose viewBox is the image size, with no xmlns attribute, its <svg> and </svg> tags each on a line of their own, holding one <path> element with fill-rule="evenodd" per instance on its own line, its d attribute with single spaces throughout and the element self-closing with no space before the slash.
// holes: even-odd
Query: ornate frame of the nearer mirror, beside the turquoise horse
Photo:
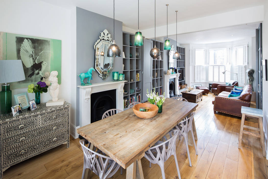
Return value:
<svg viewBox="0 0 268 179">
<path fill-rule="evenodd" d="M 105 58 L 110 58 L 110 63 L 107 69 L 104 69 L 104 67 L 101 67 L 99 63 L 99 59 L 101 56 L 101 53 L 99 53 L 99 48 L 101 48 L 103 45 L 104 47 L 107 45 L 107 48 L 112 44 L 111 41 L 111 34 L 107 31 L 107 29 L 103 30 L 103 32 L 100 32 L 99 39 L 94 44 L 95 49 L 95 62 L 94 62 L 94 68 L 99 73 L 99 77 L 102 78 L 102 80 L 105 80 L 107 76 L 109 76 L 109 73 L 114 68 L 114 58 L 113 57 L 107 57 L 107 54 L 104 52 L 103 62 L 105 61 Z M 107 50 L 107 49 L 105 49 Z M 104 65 L 104 63 L 103 63 Z"/>
</svg>

